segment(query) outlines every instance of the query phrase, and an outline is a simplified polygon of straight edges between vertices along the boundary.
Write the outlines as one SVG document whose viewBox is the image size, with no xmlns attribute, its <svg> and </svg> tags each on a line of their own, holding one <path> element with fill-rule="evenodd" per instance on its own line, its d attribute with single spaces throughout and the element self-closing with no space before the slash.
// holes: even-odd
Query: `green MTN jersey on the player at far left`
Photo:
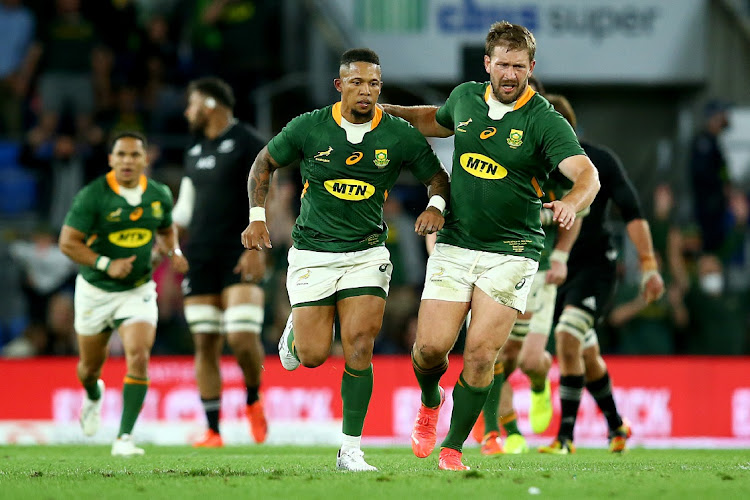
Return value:
<svg viewBox="0 0 750 500">
<path fill-rule="evenodd" d="M 141 203 L 133 206 L 120 196 L 114 170 L 78 192 L 65 217 L 65 225 L 86 235 L 86 244 L 110 259 L 135 255 L 133 270 L 124 279 L 110 278 L 93 267 L 80 266 L 80 274 L 108 292 L 130 290 L 151 279 L 151 247 L 157 230 L 172 225 L 172 193 L 160 182 L 141 176 Z"/>
</svg>

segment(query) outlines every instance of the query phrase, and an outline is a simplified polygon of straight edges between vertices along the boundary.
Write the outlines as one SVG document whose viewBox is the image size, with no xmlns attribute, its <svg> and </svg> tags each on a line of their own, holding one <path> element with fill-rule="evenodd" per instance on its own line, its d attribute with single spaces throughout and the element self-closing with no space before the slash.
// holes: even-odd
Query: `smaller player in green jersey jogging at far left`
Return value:
<svg viewBox="0 0 750 500">
<path fill-rule="evenodd" d="M 60 233 L 60 250 L 80 264 L 75 290 L 78 379 L 86 395 L 81 428 L 99 429 L 104 382 L 99 378 L 107 343 L 117 329 L 125 349 L 127 375 L 122 389 L 122 418 L 112 455 L 143 455 L 131 432 L 148 390 L 148 359 L 156 336 L 156 283 L 151 279 L 155 240 L 175 271 L 184 273 L 172 224 L 172 194 L 146 178 L 146 139 L 122 132 L 112 143 L 105 176 L 84 186 L 73 200 Z"/>
</svg>

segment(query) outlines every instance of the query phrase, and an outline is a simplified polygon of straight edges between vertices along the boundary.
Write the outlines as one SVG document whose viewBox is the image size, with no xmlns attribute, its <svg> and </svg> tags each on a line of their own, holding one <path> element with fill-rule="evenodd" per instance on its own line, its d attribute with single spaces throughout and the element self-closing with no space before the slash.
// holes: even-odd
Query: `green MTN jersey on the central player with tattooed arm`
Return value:
<svg viewBox="0 0 750 500">
<path fill-rule="evenodd" d="M 347 140 L 341 120 L 338 102 L 294 118 L 268 143 L 280 165 L 300 160 L 304 187 L 292 240 L 301 250 L 382 245 L 388 236 L 383 203 L 401 170 L 426 182 L 442 168 L 417 129 L 380 108 L 358 144 Z"/>
</svg>

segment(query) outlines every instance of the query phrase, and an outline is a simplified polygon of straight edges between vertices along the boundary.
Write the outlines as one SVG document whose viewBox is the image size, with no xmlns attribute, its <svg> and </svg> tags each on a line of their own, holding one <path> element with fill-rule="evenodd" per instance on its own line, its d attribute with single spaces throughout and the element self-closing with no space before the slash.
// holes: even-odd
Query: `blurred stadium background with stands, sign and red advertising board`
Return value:
<svg viewBox="0 0 750 500">
<path fill-rule="evenodd" d="M 58 49 L 64 44 L 58 45 L 60 39 L 49 36 L 48 29 L 58 19 L 56 9 L 75 10 L 77 3 L 81 18 L 95 33 L 79 46 L 86 51 L 86 67 L 73 67 L 70 58 L 61 57 Z M 207 22 L 219 3 L 226 5 Z M 11 4 L 27 9 L 22 18 L 32 24 L 25 38 L 18 33 L 25 25 L 14 17 L 19 11 Z M 601 329 L 616 398 L 634 422 L 634 441 L 650 446 L 750 443 L 745 307 L 750 290 L 745 234 L 750 2 L 5 0 L 0 5 L 3 32 L 26 40 L 5 44 L 0 57 L 0 373 L 5 381 L 0 396 L 9 403 L 0 410 L 0 443 L 82 440 L 76 422 L 82 391 L 74 375 L 74 269 L 55 260 L 54 238 L 72 194 L 106 170 L 108 134 L 124 128 L 146 132 L 153 143 L 151 175 L 176 189 L 189 140 L 181 113 L 184 86 L 191 78 L 218 74 L 230 81 L 238 94 L 238 116 L 270 137 L 290 118 L 337 99 L 331 84 L 337 58 L 355 46 L 369 46 L 381 55 L 383 100 L 441 103 L 458 82 L 484 79 L 482 41 L 487 27 L 499 19 L 533 29 L 539 44 L 536 75 L 548 91 L 571 100 L 582 135 L 621 156 L 652 227 L 682 237 L 676 250 L 691 276 L 684 301 L 687 322 L 665 299 L 625 322 L 617 320 L 615 307 Z M 29 61 L 36 49 L 42 55 L 32 67 Z M 42 82 L 65 64 L 93 82 L 92 121 L 81 126 L 76 120 L 80 109 L 71 104 L 53 129 L 44 130 L 49 110 Z M 721 143 L 740 197 L 727 208 L 727 220 L 717 221 L 731 225 L 736 238 L 722 256 L 725 290 L 707 301 L 698 285 L 702 242 L 692 220 L 694 205 L 707 194 L 692 192 L 688 164 L 705 105 L 716 99 L 722 105 L 731 103 L 732 125 Z M 8 119 L 14 104 L 20 109 L 17 122 Z M 436 141 L 435 148 L 449 164 L 450 141 Z M 291 434 L 329 443 L 338 435 L 343 362 L 334 357 L 315 372 L 287 374 L 273 355 L 289 307 L 283 273 L 299 193 L 295 174 L 283 172 L 269 208 L 275 242 L 263 333 L 271 354 L 265 379 L 269 441 L 285 442 Z M 665 192 L 672 194 L 672 203 L 662 219 L 658 208 Z M 426 199 L 420 186 L 404 178 L 390 201 L 388 245 L 396 272 L 376 348 L 375 404 L 365 436 L 374 442 L 402 443 L 417 400 L 405 353 L 414 334 L 426 258 L 409 226 Z M 611 223 L 622 245 L 617 305 L 624 305 L 635 294 L 637 259 L 624 242 L 616 214 Z M 671 249 L 665 244 L 657 250 L 666 263 Z M 179 277 L 160 268 L 156 279 L 161 317 L 150 369 L 153 385 L 136 433 L 144 441 L 185 443 L 204 425 L 192 379 L 191 340 L 180 312 Z M 457 353 L 460 347 L 459 342 Z M 108 384 L 114 389 L 107 391 L 102 442 L 112 437 L 119 415 L 116 381 L 124 374 L 120 355 L 113 339 L 114 359 L 104 376 L 115 383 Z M 449 379 L 459 367 L 456 357 Z M 239 411 L 241 381 L 230 359 L 225 377 L 224 433 L 228 442 L 249 442 Z M 518 375 L 513 381 L 521 427 L 528 431 L 525 381 Z M 696 411 L 703 411 L 696 408 L 705 409 L 705 415 L 696 417 Z M 582 412 L 577 440 L 604 445 L 604 421 L 592 400 L 584 401 Z M 285 432 L 290 428 L 303 432 Z"/>
</svg>

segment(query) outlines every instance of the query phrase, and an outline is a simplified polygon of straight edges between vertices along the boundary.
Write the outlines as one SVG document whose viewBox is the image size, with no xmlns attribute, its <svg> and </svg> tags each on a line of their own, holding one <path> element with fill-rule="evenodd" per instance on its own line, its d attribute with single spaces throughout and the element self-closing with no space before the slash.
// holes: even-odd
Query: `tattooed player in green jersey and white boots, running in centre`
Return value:
<svg viewBox="0 0 750 500">
<path fill-rule="evenodd" d="M 341 56 L 334 80 L 341 101 L 293 119 L 258 154 L 248 179 L 250 223 L 245 248 L 271 247 L 265 203 L 273 172 L 300 160 L 300 215 L 292 231 L 287 291 L 292 314 L 279 342 L 287 370 L 326 360 L 338 314 L 346 361 L 341 381 L 342 470 L 377 470 L 360 449 L 372 395 L 372 351 L 380 331 L 393 266 L 384 242 L 383 204 L 399 173 L 408 169 L 428 187 L 430 202 L 415 231 L 444 223 L 448 174 L 424 136 L 377 107 L 380 61 L 369 49 Z"/>
</svg>

